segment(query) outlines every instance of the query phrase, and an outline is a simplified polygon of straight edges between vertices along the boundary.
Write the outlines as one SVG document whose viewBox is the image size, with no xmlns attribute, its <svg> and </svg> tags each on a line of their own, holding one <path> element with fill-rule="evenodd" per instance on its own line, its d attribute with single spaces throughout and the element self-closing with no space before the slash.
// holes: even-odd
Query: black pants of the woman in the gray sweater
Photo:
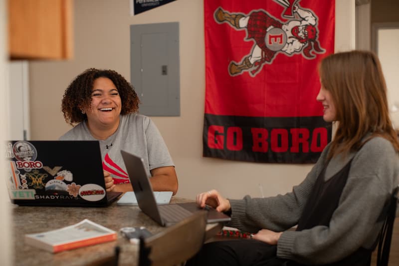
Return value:
<svg viewBox="0 0 399 266">
<path fill-rule="evenodd" d="M 280 266 L 285 260 L 276 258 L 276 246 L 257 240 L 228 240 L 207 243 L 186 266 Z"/>
</svg>

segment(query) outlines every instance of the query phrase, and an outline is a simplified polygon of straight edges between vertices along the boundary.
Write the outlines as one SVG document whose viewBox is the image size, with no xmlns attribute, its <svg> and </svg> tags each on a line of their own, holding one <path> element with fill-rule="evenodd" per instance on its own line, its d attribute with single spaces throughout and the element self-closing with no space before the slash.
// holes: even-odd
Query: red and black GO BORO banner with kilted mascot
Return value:
<svg viewBox="0 0 399 266">
<path fill-rule="evenodd" d="M 335 1 L 204 0 L 204 23 L 203 155 L 315 162 L 331 140 L 316 96 Z"/>
</svg>

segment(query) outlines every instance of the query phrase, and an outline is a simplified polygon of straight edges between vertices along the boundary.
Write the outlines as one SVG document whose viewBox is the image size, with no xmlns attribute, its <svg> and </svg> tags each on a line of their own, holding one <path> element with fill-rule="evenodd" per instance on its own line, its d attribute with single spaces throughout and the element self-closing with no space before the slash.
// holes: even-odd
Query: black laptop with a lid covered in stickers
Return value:
<svg viewBox="0 0 399 266">
<path fill-rule="evenodd" d="M 13 204 L 105 207 L 122 193 L 105 190 L 98 141 L 5 141 Z"/>
</svg>

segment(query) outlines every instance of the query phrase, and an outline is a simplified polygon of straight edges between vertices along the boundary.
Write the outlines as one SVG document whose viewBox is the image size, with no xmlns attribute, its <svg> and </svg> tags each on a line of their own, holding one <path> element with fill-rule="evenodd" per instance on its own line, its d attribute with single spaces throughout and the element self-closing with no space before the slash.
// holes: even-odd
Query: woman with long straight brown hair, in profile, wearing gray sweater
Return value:
<svg viewBox="0 0 399 266">
<path fill-rule="evenodd" d="M 231 200 L 216 190 L 199 194 L 201 207 L 231 214 L 228 226 L 253 235 L 205 244 L 188 265 L 370 265 L 384 206 L 398 187 L 399 143 L 386 83 L 368 51 L 331 54 L 319 73 L 317 100 L 323 119 L 337 124 L 333 141 L 285 195 Z"/>
</svg>

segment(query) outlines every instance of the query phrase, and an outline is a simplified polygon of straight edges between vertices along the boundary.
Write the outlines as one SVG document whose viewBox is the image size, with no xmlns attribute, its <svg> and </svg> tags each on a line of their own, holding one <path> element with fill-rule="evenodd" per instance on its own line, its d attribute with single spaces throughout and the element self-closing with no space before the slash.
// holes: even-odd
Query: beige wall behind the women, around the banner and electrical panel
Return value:
<svg viewBox="0 0 399 266">
<path fill-rule="evenodd" d="M 74 2 L 75 56 L 70 61 L 31 62 L 31 139 L 57 139 L 70 129 L 60 111 L 66 86 L 84 69 L 110 68 L 130 80 L 131 24 L 180 22 L 181 116 L 152 117 L 169 147 L 179 178 L 178 196 L 195 198 L 215 188 L 227 197 L 291 191 L 312 165 L 262 164 L 202 157 L 205 67 L 203 1 L 177 0 L 130 16 L 129 0 Z M 336 47 L 355 46 L 355 2 L 336 0 Z M 350 25 L 348 27 L 348 25 Z M 133 81 L 134 85 L 134 81 Z"/>
</svg>

